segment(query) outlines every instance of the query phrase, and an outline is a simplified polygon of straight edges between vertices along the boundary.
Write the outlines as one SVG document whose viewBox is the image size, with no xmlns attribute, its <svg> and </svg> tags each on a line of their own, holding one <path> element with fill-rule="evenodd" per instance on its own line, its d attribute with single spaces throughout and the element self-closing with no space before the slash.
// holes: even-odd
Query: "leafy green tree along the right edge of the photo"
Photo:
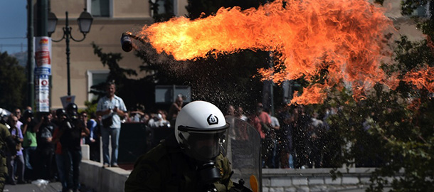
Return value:
<svg viewBox="0 0 434 192">
<path fill-rule="evenodd" d="M 428 1 L 403 1 L 402 13 L 409 15 Z M 434 11 L 434 4 L 429 6 Z M 431 12 L 432 13 L 432 12 Z M 394 50 L 394 64 L 382 66 L 388 73 L 405 79 L 418 71 L 433 77 L 433 16 L 420 21 L 427 39 L 411 42 L 403 36 Z M 431 70 L 430 70 L 431 69 Z M 419 74 L 420 75 L 420 74 Z M 433 80 L 428 80 L 428 84 Z M 326 101 L 339 106 L 339 117 L 329 119 L 337 127 L 344 151 L 340 164 L 376 166 L 367 191 L 432 191 L 434 186 L 434 100 L 432 91 L 401 81 L 395 90 L 377 84 L 366 100 L 355 102 L 347 90 L 337 91 Z M 354 161 L 353 161 L 354 160 Z M 374 164 L 373 164 L 374 163 Z M 387 178 L 391 178 L 388 180 Z"/>
</svg>

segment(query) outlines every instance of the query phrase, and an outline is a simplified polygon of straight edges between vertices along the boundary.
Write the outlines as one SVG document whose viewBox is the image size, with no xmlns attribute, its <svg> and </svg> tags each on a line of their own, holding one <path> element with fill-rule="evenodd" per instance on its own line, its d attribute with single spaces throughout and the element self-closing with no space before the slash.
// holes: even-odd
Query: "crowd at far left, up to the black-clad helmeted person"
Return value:
<svg viewBox="0 0 434 192">
<path fill-rule="evenodd" d="M 35 117 L 38 116 L 38 117 Z M 30 183 L 38 179 L 60 181 L 63 191 L 78 191 L 82 138 L 90 135 L 86 114 L 79 117 L 74 103 L 65 109 L 34 115 L 31 107 L 15 109 L 3 117 L 14 149 L 6 150 L 6 183 Z M 88 122 L 89 124 L 89 122 Z"/>
</svg>

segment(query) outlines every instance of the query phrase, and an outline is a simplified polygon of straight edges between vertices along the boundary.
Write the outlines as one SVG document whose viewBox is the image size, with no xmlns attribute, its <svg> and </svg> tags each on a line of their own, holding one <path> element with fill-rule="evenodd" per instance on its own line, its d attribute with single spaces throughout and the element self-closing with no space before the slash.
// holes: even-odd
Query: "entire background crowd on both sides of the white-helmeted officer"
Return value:
<svg viewBox="0 0 434 192">
<path fill-rule="evenodd" d="M 23 114 L 20 109 L 14 110 L 4 122 L 16 141 L 16 151 L 7 154 L 6 182 L 14 185 L 38 178 L 57 179 L 62 183 L 63 191 L 77 191 L 80 188 L 81 144 L 90 146 L 90 160 L 102 162 L 104 168 L 117 167 L 122 123 L 142 123 L 149 128 L 174 127 L 176 116 L 184 105 L 184 98 L 179 95 L 168 112 L 147 113 L 140 105 L 128 111 L 115 90 L 113 82 L 107 84 L 107 95 L 100 98 L 97 110 L 92 114 L 78 113 L 78 107 L 73 103 L 65 109 L 38 114 L 38 118 L 33 117 L 31 107 L 24 109 Z M 330 129 L 326 119 L 336 112 L 332 108 L 322 113 L 308 113 L 301 105 L 285 105 L 272 113 L 258 103 L 249 114 L 243 107 L 228 105 L 225 115 L 238 117 L 258 131 L 263 168 L 305 169 L 327 167 L 327 159 L 333 153 L 339 153 L 339 149 L 324 151 Z"/>
</svg>

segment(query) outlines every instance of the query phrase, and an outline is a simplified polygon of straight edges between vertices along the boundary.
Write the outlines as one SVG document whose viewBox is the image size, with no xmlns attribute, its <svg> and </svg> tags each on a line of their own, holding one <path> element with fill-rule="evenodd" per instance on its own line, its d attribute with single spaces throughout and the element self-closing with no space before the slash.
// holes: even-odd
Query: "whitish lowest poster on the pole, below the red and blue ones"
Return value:
<svg viewBox="0 0 434 192">
<path fill-rule="evenodd" d="M 48 75 L 37 75 L 35 83 L 36 111 L 50 112 L 50 80 Z"/>
</svg>

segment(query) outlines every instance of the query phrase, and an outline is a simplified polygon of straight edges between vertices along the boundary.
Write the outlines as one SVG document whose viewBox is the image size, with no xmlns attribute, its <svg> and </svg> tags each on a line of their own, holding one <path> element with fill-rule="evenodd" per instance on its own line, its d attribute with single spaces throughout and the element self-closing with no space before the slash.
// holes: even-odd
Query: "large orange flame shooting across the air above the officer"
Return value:
<svg viewBox="0 0 434 192">
<path fill-rule="evenodd" d="M 221 8 L 192 21 L 172 18 L 144 26 L 138 36 L 176 60 L 244 49 L 278 52 L 274 68 L 258 70 L 274 82 L 310 80 L 327 68 L 324 85 L 296 95 L 297 103 L 308 104 L 322 102 L 332 85 L 350 85 L 361 98 L 366 87 L 387 81 L 379 66 L 390 56 L 383 36 L 393 25 L 384 11 L 367 0 L 277 0 L 258 9 Z"/>
</svg>

